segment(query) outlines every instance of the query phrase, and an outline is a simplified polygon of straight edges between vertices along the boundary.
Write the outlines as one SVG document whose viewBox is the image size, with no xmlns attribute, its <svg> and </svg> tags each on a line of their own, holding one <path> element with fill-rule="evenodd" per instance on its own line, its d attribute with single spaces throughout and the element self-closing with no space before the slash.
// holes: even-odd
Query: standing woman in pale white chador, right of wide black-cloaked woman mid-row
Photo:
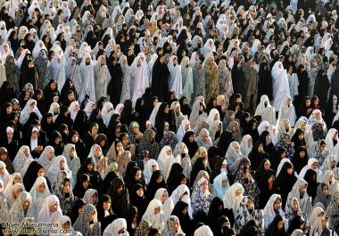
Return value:
<svg viewBox="0 0 339 236">
<path fill-rule="evenodd" d="M 168 64 L 170 70 L 169 88 L 176 94 L 176 97 L 181 97 L 183 94 L 183 77 L 181 74 L 181 66 L 178 64 L 177 56 L 171 56 Z"/>
</svg>

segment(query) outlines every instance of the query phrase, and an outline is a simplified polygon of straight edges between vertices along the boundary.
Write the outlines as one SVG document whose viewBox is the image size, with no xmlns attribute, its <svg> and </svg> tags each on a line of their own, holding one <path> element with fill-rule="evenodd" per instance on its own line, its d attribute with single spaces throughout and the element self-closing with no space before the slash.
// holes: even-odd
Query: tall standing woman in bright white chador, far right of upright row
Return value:
<svg viewBox="0 0 339 236">
<path fill-rule="evenodd" d="M 273 78 L 273 101 L 274 107 L 280 108 L 286 95 L 290 95 L 290 86 L 288 85 L 288 78 L 283 63 L 277 61 L 272 69 Z"/>
</svg>

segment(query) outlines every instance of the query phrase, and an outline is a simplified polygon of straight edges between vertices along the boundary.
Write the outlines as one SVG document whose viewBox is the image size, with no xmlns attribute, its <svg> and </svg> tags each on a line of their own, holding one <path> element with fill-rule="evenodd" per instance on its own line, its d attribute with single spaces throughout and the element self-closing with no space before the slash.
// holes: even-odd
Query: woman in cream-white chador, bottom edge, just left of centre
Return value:
<svg viewBox="0 0 339 236">
<path fill-rule="evenodd" d="M 143 220 L 149 220 L 154 228 L 157 228 L 160 232 L 165 229 L 165 214 L 161 209 L 161 201 L 153 199 L 148 204 L 148 207 L 143 216 Z"/>
</svg>

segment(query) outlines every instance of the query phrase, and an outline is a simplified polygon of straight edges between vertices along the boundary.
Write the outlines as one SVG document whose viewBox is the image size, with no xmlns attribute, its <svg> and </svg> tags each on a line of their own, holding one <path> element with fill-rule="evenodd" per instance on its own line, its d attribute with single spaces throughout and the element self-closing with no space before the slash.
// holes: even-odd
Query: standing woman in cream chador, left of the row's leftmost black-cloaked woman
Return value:
<svg viewBox="0 0 339 236">
<path fill-rule="evenodd" d="M 99 99 L 107 95 L 107 86 L 112 78 L 103 55 L 95 62 L 95 78 L 95 96 Z"/>
</svg>

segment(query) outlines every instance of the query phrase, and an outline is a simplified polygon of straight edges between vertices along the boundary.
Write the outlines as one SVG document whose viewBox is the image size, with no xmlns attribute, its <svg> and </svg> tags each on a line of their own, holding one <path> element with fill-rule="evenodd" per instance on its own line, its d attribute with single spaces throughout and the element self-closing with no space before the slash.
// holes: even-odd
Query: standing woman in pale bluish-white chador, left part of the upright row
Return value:
<svg viewBox="0 0 339 236">
<path fill-rule="evenodd" d="M 91 59 L 91 55 L 87 54 L 82 58 L 80 64 L 80 73 L 82 80 L 84 81 L 84 85 L 81 89 L 81 93 L 79 95 L 79 101 L 82 101 L 87 94 L 89 96 L 89 100 L 96 101 L 95 99 L 95 66 L 94 62 Z"/>
</svg>

